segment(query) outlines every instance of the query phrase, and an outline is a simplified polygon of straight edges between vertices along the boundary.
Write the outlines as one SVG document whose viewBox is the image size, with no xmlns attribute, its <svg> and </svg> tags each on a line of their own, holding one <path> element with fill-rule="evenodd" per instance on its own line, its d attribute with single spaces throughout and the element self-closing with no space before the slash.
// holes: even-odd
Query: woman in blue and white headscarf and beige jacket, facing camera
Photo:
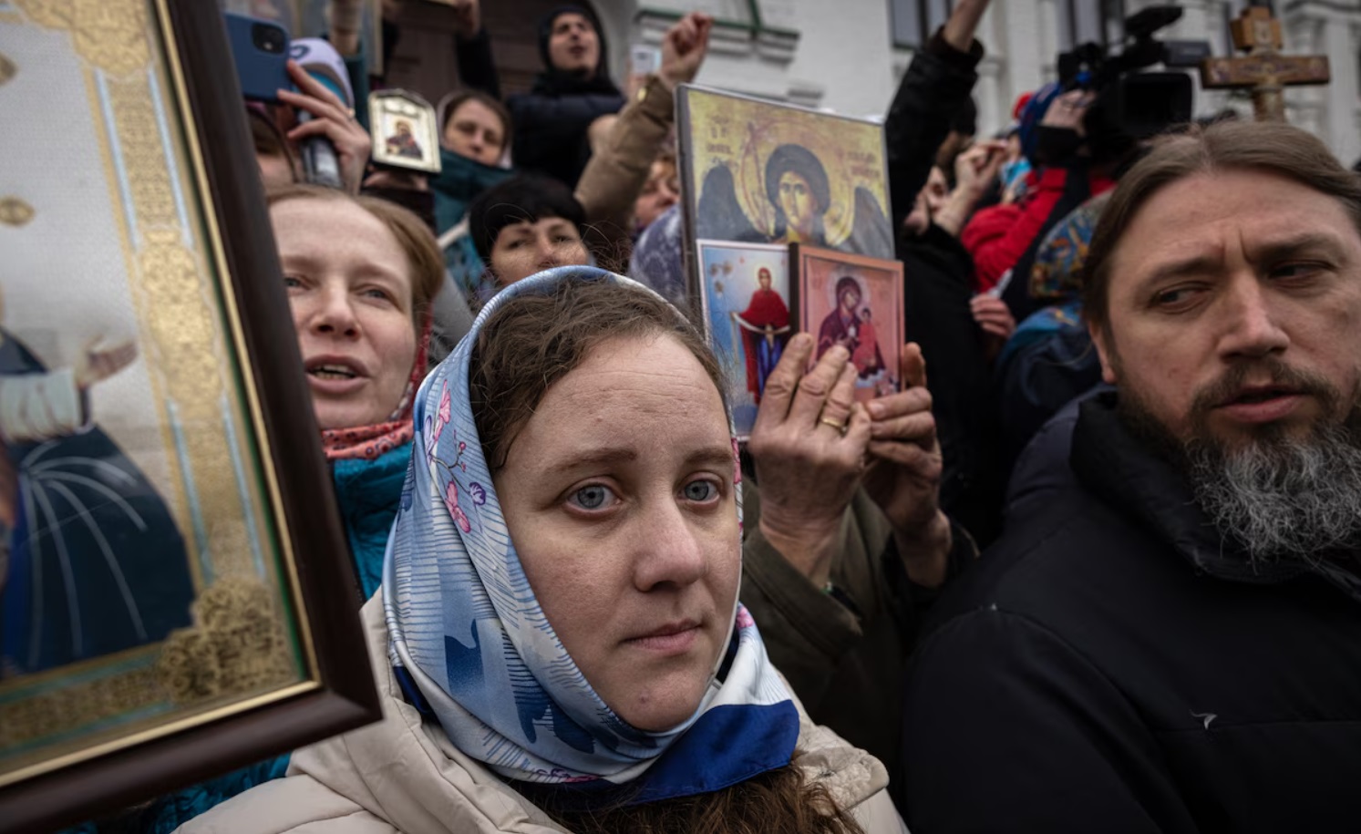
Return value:
<svg viewBox="0 0 1361 834">
<path fill-rule="evenodd" d="M 740 475 L 704 339 L 565 267 L 425 381 L 382 589 L 384 720 L 186 829 L 902 831 L 738 603 Z"/>
</svg>

